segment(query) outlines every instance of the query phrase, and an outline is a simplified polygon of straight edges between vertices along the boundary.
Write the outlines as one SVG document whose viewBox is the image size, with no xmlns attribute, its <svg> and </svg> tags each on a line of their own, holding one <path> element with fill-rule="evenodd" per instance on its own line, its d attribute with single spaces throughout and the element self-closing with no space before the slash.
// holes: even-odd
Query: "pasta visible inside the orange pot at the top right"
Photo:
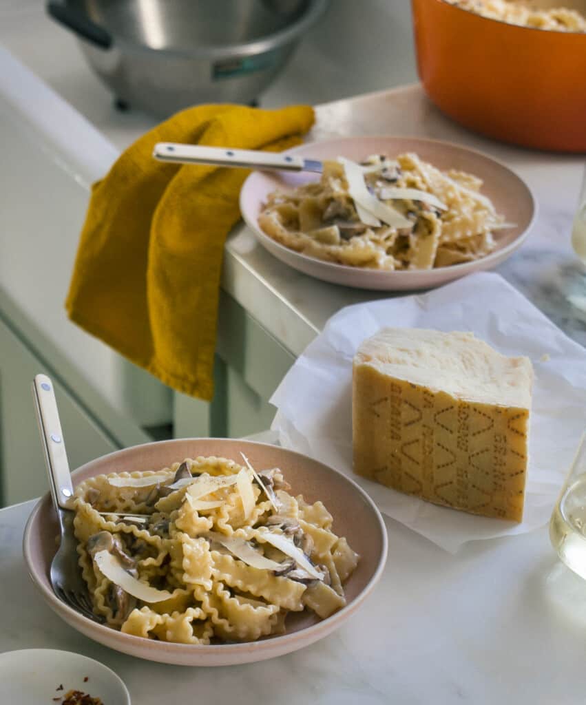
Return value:
<svg viewBox="0 0 586 705">
<path fill-rule="evenodd" d="M 539 9 L 528 1 L 515 0 L 447 0 L 463 10 L 511 25 L 535 27 L 554 32 L 586 32 L 586 18 L 576 10 L 558 7 Z"/>
</svg>

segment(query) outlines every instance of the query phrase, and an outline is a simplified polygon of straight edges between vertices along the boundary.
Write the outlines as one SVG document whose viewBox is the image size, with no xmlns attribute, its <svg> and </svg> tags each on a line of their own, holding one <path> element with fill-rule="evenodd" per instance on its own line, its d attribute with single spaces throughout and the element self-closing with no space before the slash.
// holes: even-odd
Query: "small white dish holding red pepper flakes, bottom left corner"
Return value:
<svg viewBox="0 0 586 705">
<path fill-rule="evenodd" d="M 2 705 L 59 705 L 55 698 L 62 698 L 69 690 L 100 698 L 104 705 L 130 705 L 126 685 L 113 670 L 93 658 L 57 649 L 0 654 Z"/>
</svg>

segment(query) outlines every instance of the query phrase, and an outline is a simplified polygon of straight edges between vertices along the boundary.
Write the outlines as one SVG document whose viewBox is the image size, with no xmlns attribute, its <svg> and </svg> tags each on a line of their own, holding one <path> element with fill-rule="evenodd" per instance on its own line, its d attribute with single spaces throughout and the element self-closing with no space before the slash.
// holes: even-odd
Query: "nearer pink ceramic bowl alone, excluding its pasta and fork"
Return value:
<svg viewBox="0 0 586 705">
<path fill-rule="evenodd" d="M 32 581 L 42 598 L 69 625 L 111 649 L 150 661 L 182 666 L 228 666 L 234 663 L 262 661 L 301 649 L 331 634 L 345 622 L 379 580 L 386 561 L 386 528 L 379 510 L 367 494 L 343 474 L 292 450 L 267 443 L 230 439 L 181 439 L 145 443 L 143 446 L 118 450 L 92 460 L 72 473 L 73 484 L 87 477 L 126 470 L 156 470 L 183 458 L 198 455 L 216 455 L 242 460 L 243 451 L 258 470 L 281 467 L 293 494 L 303 494 L 310 502 L 321 499 L 334 517 L 334 531 L 348 539 L 350 546 L 360 553 L 358 568 L 350 576 L 344 589 L 348 604 L 325 620 L 305 612 L 290 614 L 287 631 L 279 637 L 242 644 L 170 644 L 153 639 L 142 639 L 122 634 L 104 625 L 92 622 L 61 602 L 49 584 L 49 566 L 55 553 L 58 534 L 56 515 L 47 493 L 37 504 L 28 520 L 23 539 L 25 563 Z"/>
</svg>

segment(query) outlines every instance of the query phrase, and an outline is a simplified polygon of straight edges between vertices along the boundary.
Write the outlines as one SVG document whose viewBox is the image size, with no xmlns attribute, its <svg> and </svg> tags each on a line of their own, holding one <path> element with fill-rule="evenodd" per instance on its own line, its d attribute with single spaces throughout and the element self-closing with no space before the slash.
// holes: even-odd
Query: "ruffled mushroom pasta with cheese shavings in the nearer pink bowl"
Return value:
<svg viewBox="0 0 586 705">
<path fill-rule="evenodd" d="M 322 502 L 290 489 L 279 469 L 213 457 L 82 482 L 74 529 L 94 613 L 184 644 L 279 634 L 291 611 L 328 617 L 359 557 Z"/>
</svg>

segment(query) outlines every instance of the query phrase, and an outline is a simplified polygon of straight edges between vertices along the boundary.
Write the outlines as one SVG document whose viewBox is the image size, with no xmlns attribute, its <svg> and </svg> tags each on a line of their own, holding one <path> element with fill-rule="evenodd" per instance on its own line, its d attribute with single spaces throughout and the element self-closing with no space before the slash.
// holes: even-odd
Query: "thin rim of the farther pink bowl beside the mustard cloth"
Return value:
<svg viewBox="0 0 586 705">
<path fill-rule="evenodd" d="M 445 1 L 445 0 L 441 0 Z M 312 263 L 317 263 L 318 266 L 323 267 L 327 271 L 331 272 L 338 272 L 338 273 L 347 273 L 349 274 L 350 272 L 356 272 L 356 271 L 362 271 L 362 272 L 368 272 L 369 274 L 373 274 L 373 276 L 377 276 L 377 278 L 393 278 L 394 280 L 398 281 L 401 278 L 403 280 L 408 281 L 409 278 L 413 278 L 414 274 L 417 274 L 419 276 L 422 276 L 425 274 L 425 272 L 441 272 L 441 271 L 450 271 L 454 272 L 455 276 L 453 278 L 459 278 L 460 276 L 465 276 L 465 274 L 471 274 L 473 271 L 476 271 L 478 263 L 479 262 L 487 262 L 489 265 L 492 262 L 495 262 L 498 260 L 499 262 L 501 261 L 501 258 L 503 257 L 508 257 L 508 255 L 511 255 L 512 252 L 518 249 L 520 245 L 522 245 L 527 237 L 530 235 L 532 229 L 535 226 L 535 223 L 537 221 L 537 216 L 539 214 L 539 205 L 537 202 L 537 198 L 535 197 L 535 194 L 532 191 L 532 188 L 530 185 L 523 179 L 521 178 L 518 173 L 508 166 L 507 164 L 503 164 L 502 161 L 499 161 L 499 159 L 494 159 L 494 157 L 490 156 L 489 154 L 486 154 L 485 152 L 481 152 L 480 149 L 473 149 L 472 147 L 465 147 L 464 145 L 458 145 L 456 142 L 448 142 L 447 140 L 434 140 L 434 139 L 428 139 L 427 137 L 415 137 L 413 135 L 355 135 L 355 136 L 348 136 L 348 137 L 331 137 L 327 140 L 318 140 L 316 142 L 304 142 L 303 145 L 298 145 L 298 147 L 292 147 L 291 149 L 286 149 L 282 153 L 283 154 L 295 154 L 296 152 L 304 152 L 307 147 L 311 147 L 312 145 L 326 145 L 330 142 L 343 142 L 343 141 L 351 141 L 351 140 L 416 140 L 417 142 L 427 142 L 429 145 L 443 145 L 446 147 L 450 148 L 456 148 L 456 149 L 461 149 L 465 152 L 472 152 L 472 154 L 476 154 L 479 157 L 482 157 L 483 159 L 488 159 L 489 161 L 492 161 L 494 164 L 497 164 L 501 168 L 505 169 L 509 173 L 513 174 L 513 176 L 518 180 L 520 185 L 525 188 L 527 192 L 527 196 L 529 197 L 530 203 L 531 203 L 531 217 L 529 222 L 527 223 L 527 226 L 525 227 L 525 230 L 517 235 L 517 237 L 511 242 L 508 243 L 508 245 L 505 245 L 504 247 L 499 247 L 496 250 L 493 250 L 490 252 L 488 255 L 485 255 L 484 257 L 480 257 L 479 259 L 472 259 L 471 262 L 460 262 L 459 264 L 449 264 L 447 266 L 441 266 L 441 267 L 434 267 L 433 269 L 391 269 L 391 270 L 386 270 L 386 269 L 374 269 L 372 267 L 356 267 L 356 266 L 351 266 L 350 264 L 338 264 L 337 262 L 329 262 L 326 259 L 319 259 L 318 257 L 311 257 L 310 255 L 304 255 L 303 252 L 297 252 L 296 250 L 291 250 L 290 247 L 286 247 L 285 245 L 281 244 L 278 242 L 278 240 L 274 240 L 274 238 L 271 238 L 270 235 L 267 235 L 267 233 L 264 233 L 260 226 L 258 225 L 258 218 L 255 219 L 255 222 L 252 222 L 251 219 L 248 219 L 245 216 L 245 209 L 243 208 L 243 202 L 245 198 L 245 190 L 247 188 L 247 184 L 249 184 L 250 180 L 255 178 L 256 171 L 253 171 L 251 174 L 248 175 L 248 177 L 245 179 L 245 182 L 242 185 L 242 188 L 240 189 L 240 197 L 238 198 L 238 204 L 240 207 L 240 213 L 242 214 L 242 217 L 245 221 L 245 223 L 252 229 L 252 231 L 255 233 L 257 237 L 261 237 L 263 239 L 266 239 L 271 243 L 271 245 L 275 245 L 277 249 L 279 249 L 281 252 L 283 252 L 286 255 L 290 255 L 292 257 L 298 258 L 299 262 L 312 262 Z M 250 184 L 249 187 L 250 188 Z"/>
</svg>

